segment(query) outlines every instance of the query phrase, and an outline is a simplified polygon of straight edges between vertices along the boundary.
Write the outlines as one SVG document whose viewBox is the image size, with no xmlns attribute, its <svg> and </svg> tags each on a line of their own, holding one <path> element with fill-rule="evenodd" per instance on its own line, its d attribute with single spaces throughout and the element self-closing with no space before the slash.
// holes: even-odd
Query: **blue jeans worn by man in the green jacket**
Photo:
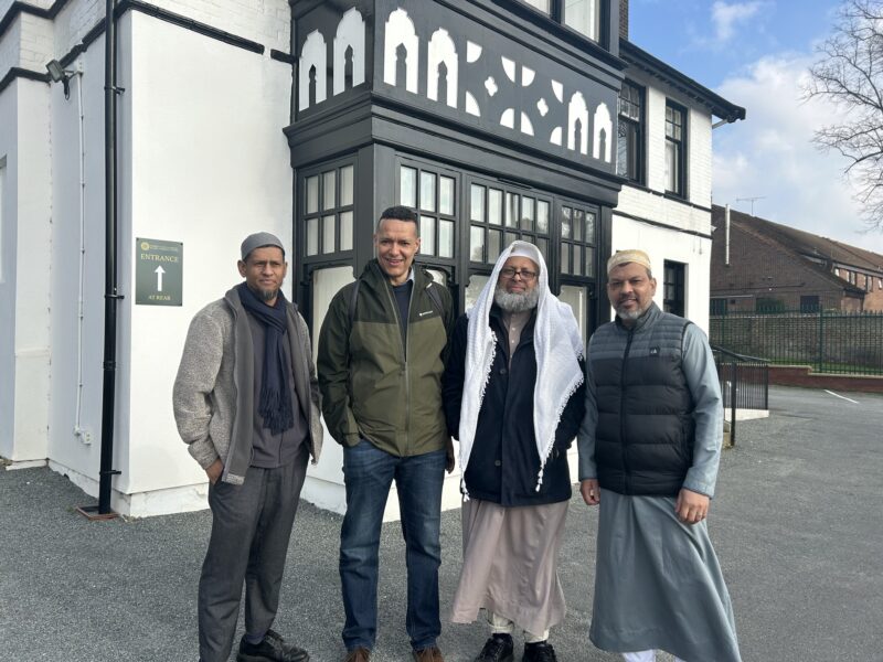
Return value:
<svg viewBox="0 0 883 662">
<path fill-rule="evenodd" d="M 400 458 L 361 439 L 343 449 L 347 514 L 340 530 L 343 643 L 348 651 L 374 648 L 377 634 L 377 551 L 383 510 L 395 480 L 407 563 L 406 629 L 414 650 L 435 645 L 442 545 L 445 450 Z"/>
</svg>

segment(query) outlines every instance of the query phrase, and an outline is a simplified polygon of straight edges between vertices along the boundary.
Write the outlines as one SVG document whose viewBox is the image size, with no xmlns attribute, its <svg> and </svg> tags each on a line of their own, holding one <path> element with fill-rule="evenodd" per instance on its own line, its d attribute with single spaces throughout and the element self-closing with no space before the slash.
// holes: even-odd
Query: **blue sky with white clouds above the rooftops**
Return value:
<svg viewBox="0 0 883 662">
<path fill-rule="evenodd" d="M 629 40 L 746 109 L 714 130 L 713 201 L 883 254 L 848 164 L 812 142 L 838 110 L 802 98 L 839 0 L 629 0 Z M 752 203 L 749 199 L 756 199 Z"/>
</svg>

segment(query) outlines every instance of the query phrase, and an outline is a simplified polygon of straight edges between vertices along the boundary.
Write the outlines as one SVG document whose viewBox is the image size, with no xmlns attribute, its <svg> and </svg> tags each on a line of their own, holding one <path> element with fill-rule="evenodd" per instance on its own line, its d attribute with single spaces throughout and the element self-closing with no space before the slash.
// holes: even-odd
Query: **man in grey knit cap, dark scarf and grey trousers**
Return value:
<svg viewBox="0 0 883 662">
<path fill-rule="evenodd" d="M 248 235 L 241 256 L 245 280 L 190 323 L 172 396 L 178 431 L 210 482 L 200 661 L 228 659 L 245 584 L 237 662 L 307 662 L 270 627 L 307 462 L 321 450 L 318 382 L 307 324 L 281 291 L 281 242 Z"/>
</svg>

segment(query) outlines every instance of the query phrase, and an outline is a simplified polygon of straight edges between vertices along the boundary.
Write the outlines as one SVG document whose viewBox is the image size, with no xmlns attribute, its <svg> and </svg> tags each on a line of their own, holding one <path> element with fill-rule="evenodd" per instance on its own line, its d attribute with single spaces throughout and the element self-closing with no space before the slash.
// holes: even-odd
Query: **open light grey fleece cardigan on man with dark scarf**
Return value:
<svg viewBox="0 0 883 662">
<path fill-rule="evenodd" d="M 298 404 L 309 421 L 307 442 L 315 465 L 322 448 L 319 385 L 309 329 L 291 303 L 287 337 Z M 190 455 L 203 469 L 221 458 L 224 482 L 242 484 L 252 460 L 253 381 L 252 331 L 240 296 L 231 289 L 190 322 L 172 392 L 178 433 Z"/>
</svg>

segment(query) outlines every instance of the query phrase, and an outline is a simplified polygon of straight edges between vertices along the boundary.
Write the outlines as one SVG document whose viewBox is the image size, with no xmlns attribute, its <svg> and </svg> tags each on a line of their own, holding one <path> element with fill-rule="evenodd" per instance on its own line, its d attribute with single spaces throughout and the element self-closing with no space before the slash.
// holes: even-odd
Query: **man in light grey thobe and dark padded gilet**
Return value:
<svg viewBox="0 0 883 662">
<path fill-rule="evenodd" d="M 600 503 L 589 638 L 627 662 L 740 662 L 705 516 L 723 409 L 708 339 L 653 303 L 641 250 L 607 263 L 617 319 L 588 348 L 581 492 Z"/>
</svg>

